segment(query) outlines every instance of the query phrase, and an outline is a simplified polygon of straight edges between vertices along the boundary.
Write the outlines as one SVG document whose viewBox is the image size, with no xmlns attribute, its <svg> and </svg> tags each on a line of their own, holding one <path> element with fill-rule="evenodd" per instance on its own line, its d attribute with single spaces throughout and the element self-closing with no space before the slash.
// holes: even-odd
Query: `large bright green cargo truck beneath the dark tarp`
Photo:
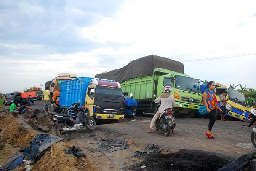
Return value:
<svg viewBox="0 0 256 171">
<path fill-rule="evenodd" d="M 137 100 L 137 111 L 140 113 L 155 114 L 157 105 L 154 103 L 154 94 L 160 96 L 164 86 L 172 88 L 172 95 L 176 101 L 176 114 L 184 117 L 193 117 L 201 104 L 200 81 L 189 75 L 155 68 L 152 75 L 137 77 L 121 83 L 124 92 L 133 94 Z"/>
</svg>

